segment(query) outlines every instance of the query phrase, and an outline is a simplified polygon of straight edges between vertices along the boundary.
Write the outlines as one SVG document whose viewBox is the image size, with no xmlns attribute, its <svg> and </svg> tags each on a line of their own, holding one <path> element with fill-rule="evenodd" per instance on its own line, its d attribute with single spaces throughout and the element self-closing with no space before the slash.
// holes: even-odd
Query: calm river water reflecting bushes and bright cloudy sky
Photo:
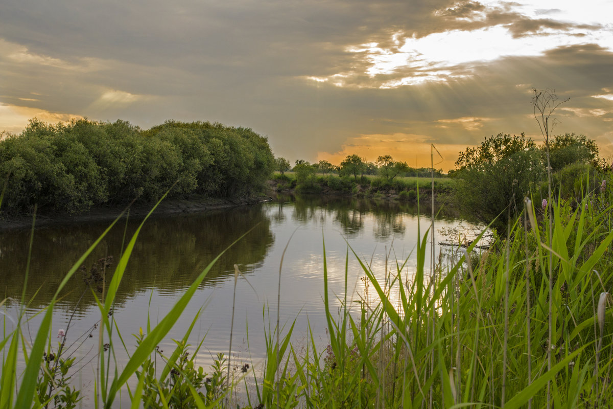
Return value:
<svg viewBox="0 0 613 409">
<path fill-rule="evenodd" d="M 280 197 L 264 204 L 200 214 L 154 216 L 140 232 L 116 297 L 113 316 L 128 349 L 133 350 L 135 339 L 131 334 L 137 334 L 140 327 L 147 332 L 148 319 L 154 326 L 211 259 L 253 227 L 253 231 L 227 250 L 213 267 L 160 348 L 169 354 L 175 346 L 172 339 L 183 337 L 198 310 L 204 307 L 190 338 L 191 351 L 204 338 L 198 363 L 205 369 L 218 352 L 228 353 L 233 265 L 238 264 L 245 277 L 240 277 L 237 283 L 233 359 L 237 363 L 253 362 L 257 365 L 261 362 L 265 352 L 264 329 L 268 331 L 269 325 L 274 327 L 276 324 L 279 269 L 286 245 L 281 270 L 281 323 L 296 321 L 293 343 L 298 350 L 300 345 L 305 345 L 309 323 L 316 342 L 327 345 L 322 301 L 324 240 L 329 289 L 333 292 L 331 299 L 338 307 L 345 294 L 348 252 L 347 297 L 359 300 L 365 294 L 364 284 L 360 281 L 365 274 L 348 246 L 371 263 L 373 271 L 381 278 L 384 277 L 386 251 L 391 254 L 390 260 L 409 258 L 405 275 L 410 277 L 415 269 L 418 221 L 423 234 L 430 226 L 429 208 L 427 213 L 419 215 L 417 209 L 408 204 L 317 196 Z M 435 242 L 438 243 L 445 239 L 438 230 L 458 227 L 460 220 L 441 216 L 435 223 Z M 53 226 L 34 232 L 26 288 L 26 300 L 29 300 L 26 312 L 30 318 L 25 327 L 26 334 L 29 331 L 34 337 L 40 320 L 36 312 L 47 305 L 67 270 L 108 224 Z M 118 223 L 85 262 L 86 270 L 105 256 L 113 256 L 118 261 L 124 240 L 129 240 L 138 224 L 136 220 Z M 462 229 L 473 227 L 462 222 Z M 5 289 L 6 297 L 10 297 L 3 308 L 12 317 L 17 316 L 22 307 L 18 300 L 23 289 L 28 244 L 29 231 L 0 233 L 0 288 Z M 437 245 L 435 254 L 439 252 Z M 425 265 L 429 266 L 430 251 L 427 250 L 426 254 Z M 110 267 L 111 271 L 115 264 Z M 72 317 L 67 334 L 68 345 L 80 335 L 88 334 L 99 320 L 99 310 L 82 273 L 75 274 L 70 281 L 53 317 L 53 334 L 58 329 L 66 329 Z M 7 321 L 7 329 L 11 326 L 12 323 Z M 87 389 L 93 383 L 95 368 L 89 361 L 90 351 L 97 345 L 97 332 L 94 332 L 94 337 L 82 340 L 82 345 L 73 347 L 71 351 L 74 356 L 83 358 L 75 365 L 75 369 L 84 367 L 75 375 L 75 382 L 82 383 Z M 113 342 L 121 366 L 127 354 L 118 339 Z M 89 406 L 91 401 L 88 399 L 83 401 L 83 406 Z"/>
</svg>

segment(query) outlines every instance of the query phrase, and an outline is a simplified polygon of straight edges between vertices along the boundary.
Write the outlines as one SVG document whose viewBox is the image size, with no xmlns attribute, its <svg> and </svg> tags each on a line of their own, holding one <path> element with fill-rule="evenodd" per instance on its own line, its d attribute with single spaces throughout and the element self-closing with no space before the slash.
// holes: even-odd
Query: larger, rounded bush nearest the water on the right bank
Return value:
<svg viewBox="0 0 613 409">
<path fill-rule="evenodd" d="M 481 146 L 466 148 L 455 162 L 455 196 L 479 221 L 504 228 L 509 215 L 519 214 L 524 196 L 541 180 L 543 161 L 536 143 L 524 134 L 498 134 Z"/>
</svg>

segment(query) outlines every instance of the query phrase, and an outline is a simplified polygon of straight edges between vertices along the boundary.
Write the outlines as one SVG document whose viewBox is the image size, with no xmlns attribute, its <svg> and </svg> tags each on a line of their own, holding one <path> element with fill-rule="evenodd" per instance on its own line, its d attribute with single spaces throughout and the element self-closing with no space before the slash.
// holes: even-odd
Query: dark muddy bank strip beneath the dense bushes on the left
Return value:
<svg viewBox="0 0 613 409">
<path fill-rule="evenodd" d="M 162 201 L 153 212 L 152 216 L 207 212 L 209 210 L 253 205 L 271 200 L 272 197 L 265 195 L 235 197 L 232 199 L 215 199 L 200 195 L 192 195 L 183 199 L 175 197 L 172 199 L 164 199 L 164 201 Z M 131 218 L 142 219 L 147 216 L 153 206 L 154 203 L 132 204 L 129 207 L 129 215 Z M 43 211 L 36 215 L 36 227 L 56 224 L 87 223 L 90 221 L 113 221 L 127 208 L 128 207 L 126 205 L 95 207 L 88 210 L 88 212 L 75 214 Z M 31 227 L 32 215 L 7 215 L 0 213 L 0 231 L 29 229 Z"/>
</svg>

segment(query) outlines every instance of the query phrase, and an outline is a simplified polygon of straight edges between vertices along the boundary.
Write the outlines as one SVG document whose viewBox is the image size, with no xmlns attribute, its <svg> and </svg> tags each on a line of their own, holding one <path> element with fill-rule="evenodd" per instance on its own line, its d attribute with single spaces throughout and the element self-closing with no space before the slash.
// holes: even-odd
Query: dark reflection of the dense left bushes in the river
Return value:
<svg viewBox="0 0 613 409">
<path fill-rule="evenodd" d="M 32 307 L 47 304 L 59 282 L 72 264 L 110 223 L 89 223 L 83 226 L 60 226 L 37 229 L 34 234 L 30 275 L 26 299 L 34 296 Z M 139 221 L 130 221 L 126 243 Z M 257 224 L 257 226 L 256 226 Z M 219 212 L 157 217 L 148 220 L 139 234 L 132 257 L 121 281 L 116 298 L 123 304 L 126 297 L 157 288 L 177 292 L 185 289 L 215 256 L 240 235 L 256 226 L 234 247 L 223 254 L 205 279 L 206 285 L 215 285 L 234 273 L 233 265 L 249 273 L 264 260 L 273 243 L 270 219 L 260 205 L 240 207 Z M 112 255 L 115 262 L 107 271 L 115 269 L 121 255 L 124 222 L 119 222 L 84 263 L 86 270 L 100 258 Z M 7 232 L 0 235 L 0 286 L 6 288 L 6 297 L 19 299 L 28 257 L 29 231 Z M 63 302 L 74 308 L 86 285 L 82 275 L 75 274 Z M 93 303 L 87 297 L 86 304 Z M 85 308 L 81 306 L 80 308 Z"/>
</svg>

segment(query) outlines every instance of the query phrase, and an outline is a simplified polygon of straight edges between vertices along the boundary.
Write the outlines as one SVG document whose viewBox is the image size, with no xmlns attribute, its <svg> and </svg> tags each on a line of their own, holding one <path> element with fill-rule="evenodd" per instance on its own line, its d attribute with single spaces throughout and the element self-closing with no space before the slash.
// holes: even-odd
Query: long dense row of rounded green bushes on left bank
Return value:
<svg viewBox="0 0 613 409">
<path fill-rule="evenodd" d="M 166 121 L 142 130 L 127 121 L 31 120 L 0 141 L 3 207 L 82 212 L 201 194 L 234 197 L 259 191 L 275 168 L 267 139 L 248 128 Z M 176 183 L 176 185 L 175 185 Z"/>
</svg>

